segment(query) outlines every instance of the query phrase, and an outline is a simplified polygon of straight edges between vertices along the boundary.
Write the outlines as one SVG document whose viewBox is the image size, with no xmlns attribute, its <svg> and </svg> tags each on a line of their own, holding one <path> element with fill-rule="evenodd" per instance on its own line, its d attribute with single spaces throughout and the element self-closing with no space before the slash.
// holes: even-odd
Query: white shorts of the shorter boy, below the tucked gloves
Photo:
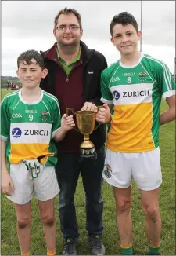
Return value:
<svg viewBox="0 0 176 256">
<path fill-rule="evenodd" d="M 13 179 L 15 191 L 7 196 L 11 201 L 25 204 L 33 197 L 33 192 L 39 201 L 48 201 L 59 193 L 55 167 L 40 164 L 40 173 L 33 180 L 25 163 L 10 164 L 10 177 Z"/>
</svg>

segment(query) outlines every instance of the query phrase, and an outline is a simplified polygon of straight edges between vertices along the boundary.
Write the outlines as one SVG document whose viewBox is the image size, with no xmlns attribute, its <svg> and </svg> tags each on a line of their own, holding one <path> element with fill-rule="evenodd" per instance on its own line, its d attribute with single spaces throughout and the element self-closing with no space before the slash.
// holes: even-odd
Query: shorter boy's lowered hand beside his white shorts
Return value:
<svg viewBox="0 0 176 256">
<path fill-rule="evenodd" d="M 14 190 L 15 188 L 12 178 L 9 176 L 7 171 L 2 172 L 2 192 L 7 196 L 11 196 Z"/>
</svg>

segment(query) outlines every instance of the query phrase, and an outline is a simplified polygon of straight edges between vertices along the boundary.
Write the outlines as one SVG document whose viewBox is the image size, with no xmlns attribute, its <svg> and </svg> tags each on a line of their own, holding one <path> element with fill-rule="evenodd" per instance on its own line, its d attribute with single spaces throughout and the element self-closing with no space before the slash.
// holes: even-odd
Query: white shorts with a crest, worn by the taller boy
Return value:
<svg viewBox="0 0 176 256">
<path fill-rule="evenodd" d="M 128 188 L 133 178 L 142 190 L 156 189 L 162 183 L 160 148 L 141 153 L 120 153 L 107 149 L 102 177 L 117 188 Z"/>
</svg>

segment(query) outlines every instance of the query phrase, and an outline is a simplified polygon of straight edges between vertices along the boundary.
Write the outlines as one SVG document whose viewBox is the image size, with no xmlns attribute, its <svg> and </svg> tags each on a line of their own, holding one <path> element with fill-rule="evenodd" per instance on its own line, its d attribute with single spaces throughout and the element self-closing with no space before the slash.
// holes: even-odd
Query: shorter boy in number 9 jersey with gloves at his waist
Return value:
<svg viewBox="0 0 176 256">
<path fill-rule="evenodd" d="M 61 141 L 73 129 L 73 116 L 60 119 L 56 97 L 41 90 L 40 82 L 48 73 L 41 55 L 35 50 L 20 54 L 17 75 L 21 90 L 2 101 L 2 192 L 13 201 L 21 255 L 30 254 L 31 199 L 33 192 L 45 233 L 47 254 L 56 254 L 55 197 L 59 193 L 54 141 Z M 5 159 L 10 163 L 10 174 Z"/>
</svg>

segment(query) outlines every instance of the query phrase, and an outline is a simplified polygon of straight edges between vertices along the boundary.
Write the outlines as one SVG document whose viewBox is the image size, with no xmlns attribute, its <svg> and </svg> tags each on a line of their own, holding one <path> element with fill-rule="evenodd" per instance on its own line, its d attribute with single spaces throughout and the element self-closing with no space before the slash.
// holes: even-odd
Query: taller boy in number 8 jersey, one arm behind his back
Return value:
<svg viewBox="0 0 176 256">
<path fill-rule="evenodd" d="M 113 186 L 121 253 L 132 254 L 133 177 L 141 194 L 149 254 L 158 255 L 162 182 L 159 130 L 160 125 L 175 119 L 175 83 L 163 61 L 138 51 L 141 32 L 134 16 L 126 12 L 114 16 L 110 33 L 111 42 L 120 51 L 120 60 L 101 75 L 106 109 L 99 109 L 97 121 L 110 123 L 102 177 Z M 169 108 L 160 115 L 162 95 Z"/>
</svg>

